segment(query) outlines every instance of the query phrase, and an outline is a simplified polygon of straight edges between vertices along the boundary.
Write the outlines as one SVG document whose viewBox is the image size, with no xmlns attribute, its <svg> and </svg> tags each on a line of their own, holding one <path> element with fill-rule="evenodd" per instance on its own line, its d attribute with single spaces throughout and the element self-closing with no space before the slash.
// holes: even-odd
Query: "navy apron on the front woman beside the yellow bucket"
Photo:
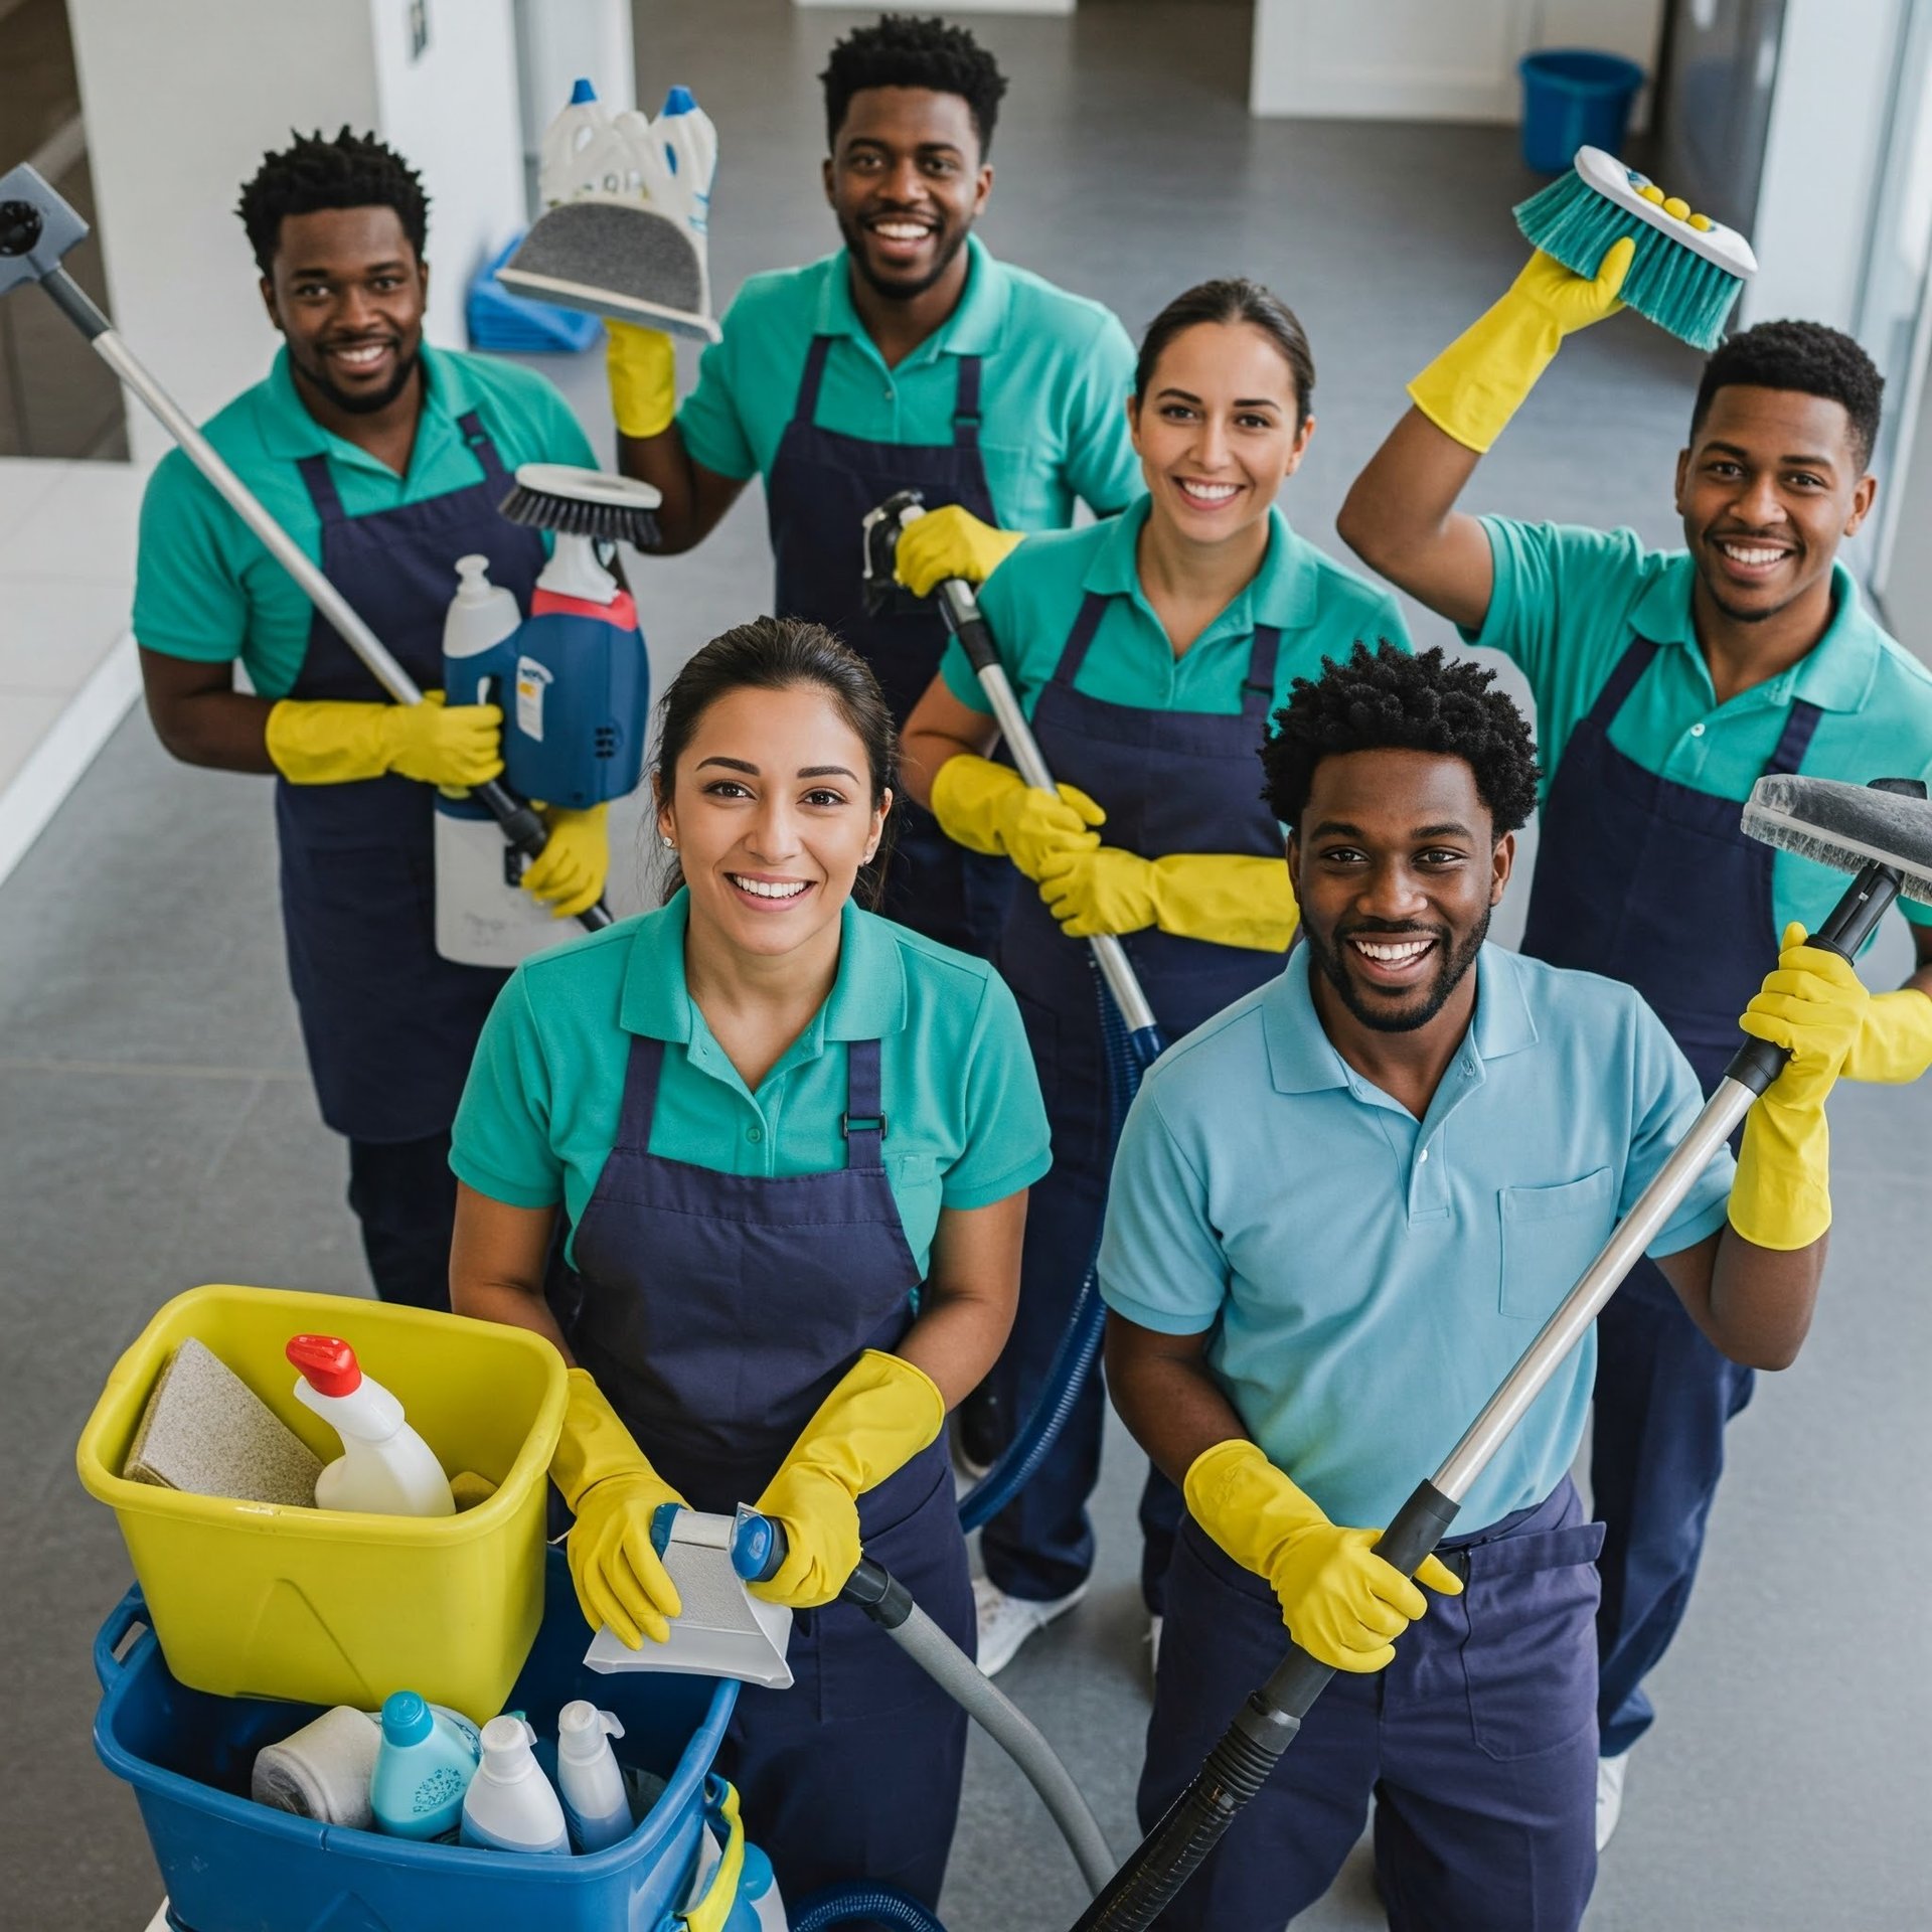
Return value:
<svg viewBox="0 0 1932 1932">
<path fill-rule="evenodd" d="M 846 1049 L 846 1165 L 724 1175 L 649 1151 L 661 1039 L 634 1037 L 624 1111 L 576 1231 L 566 1333 L 653 1466 L 696 1507 L 757 1501 L 920 1283 L 881 1142 L 879 1041 Z M 970 1652 L 972 1582 L 945 1439 L 860 1497 L 860 1534 Z M 937 1905 L 966 1716 L 850 1604 L 792 1621 L 788 1690 L 746 1687 L 721 1768 L 786 1897 L 877 1878 Z"/>
</svg>

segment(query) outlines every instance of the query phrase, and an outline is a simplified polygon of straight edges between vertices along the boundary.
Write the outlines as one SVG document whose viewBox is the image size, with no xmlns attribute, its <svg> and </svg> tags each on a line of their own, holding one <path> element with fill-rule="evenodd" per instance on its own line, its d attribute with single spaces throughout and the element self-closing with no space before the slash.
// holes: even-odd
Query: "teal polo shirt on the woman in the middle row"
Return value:
<svg viewBox="0 0 1932 1932">
<path fill-rule="evenodd" d="M 1105 524 L 1028 537 L 980 585 L 980 611 L 1028 717 L 1053 680 L 1088 591 L 1099 591 L 1109 603 L 1074 690 L 1144 711 L 1236 715 L 1256 624 L 1281 628 L 1269 711 L 1289 701 L 1296 678 L 1321 676 L 1321 659 L 1347 657 L 1358 639 L 1387 638 L 1408 649 L 1395 597 L 1294 535 L 1281 510 L 1271 508 L 1262 568 L 1175 657 L 1134 562 L 1148 512 L 1148 498 L 1142 498 Z M 947 643 L 939 674 L 962 705 L 991 715 L 956 638 Z"/>
</svg>

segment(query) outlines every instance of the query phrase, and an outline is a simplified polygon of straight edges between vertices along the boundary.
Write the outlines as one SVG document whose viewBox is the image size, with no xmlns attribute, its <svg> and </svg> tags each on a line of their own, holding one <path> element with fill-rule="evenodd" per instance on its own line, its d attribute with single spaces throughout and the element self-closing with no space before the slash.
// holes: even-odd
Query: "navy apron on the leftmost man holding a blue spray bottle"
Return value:
<svg viewBox="0 0 1932 1932">
<path fill-rule="evenodd" d="M 327 456 L 296 468 L 323 522 L 323 576 L 425 690 L 442 684 L 456 558 L 529 607 L 543 537 L 498 514 L 510 475 L 471 410 L 456 425 L 483 479 L 423 502 L 346 516 Z M 315 612 L 290 697 L 381 703 L 386 692 Z M 365 1142 L 427 1140 L 456 1119 L 491 1001 L 508 974 L 452 966 L 435 943 L 431 786 L 276 781 L 282 929 L 323 1121 Z"/>
</svg>

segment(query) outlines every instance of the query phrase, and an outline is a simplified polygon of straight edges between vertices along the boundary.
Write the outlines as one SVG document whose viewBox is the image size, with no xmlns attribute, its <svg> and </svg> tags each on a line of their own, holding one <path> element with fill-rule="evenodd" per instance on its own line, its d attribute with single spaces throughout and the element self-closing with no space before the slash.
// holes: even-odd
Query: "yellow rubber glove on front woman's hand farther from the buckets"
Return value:
<svg viewBox="0 0 1932 1932">
<path fill-rule="evenodd" d="M 784 1524 L 788 1548 L 769 1582 L 773 1604 L 829 1604 L 858 1569 L 858 1499 L 939 1439 L 947 1405 L 931 1376 L 902 1354 L 867 1349 L 819 1403 L 757 1513 Z"/>
</svg>

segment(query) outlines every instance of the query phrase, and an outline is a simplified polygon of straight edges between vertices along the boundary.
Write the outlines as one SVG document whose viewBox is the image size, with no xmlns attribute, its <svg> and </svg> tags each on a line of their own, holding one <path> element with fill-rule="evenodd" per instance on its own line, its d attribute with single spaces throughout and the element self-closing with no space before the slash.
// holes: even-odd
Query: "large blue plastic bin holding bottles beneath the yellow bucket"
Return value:
<svg viewBox="0 0 1932 1932">
<path fill-rule="evenodd" d="M 553 1739 L 572 1698 L 614 1710 L 624 1723 L 612 1741 L 618 1760 L 667 1781 L 630 1837 L 585 1857 L 417 1845 L 255 1804 L 247 1797 L 255 1752 L 298 1731 L 319 1706 L 189 1690 L 168 1675 L 147 1629 L 116 1658 L 143 1621 L 133 1588 L 95 1638 L 104 1692 L 95 1750 L 133 1785 L 184 1932 L 674 1932 L 707 1812 L 724 1841 L 726 1787 L 709 1772 L 738 1685 L 583 1669 L 589 1633 L 560 1549 L 549 1551 L 543 1625 L 508 1708 Z M 554 1770 L 554 1756 L 545 1768 Z M 730 1932 L 752 1922 L 740 1901 Z"/>
</svg>

